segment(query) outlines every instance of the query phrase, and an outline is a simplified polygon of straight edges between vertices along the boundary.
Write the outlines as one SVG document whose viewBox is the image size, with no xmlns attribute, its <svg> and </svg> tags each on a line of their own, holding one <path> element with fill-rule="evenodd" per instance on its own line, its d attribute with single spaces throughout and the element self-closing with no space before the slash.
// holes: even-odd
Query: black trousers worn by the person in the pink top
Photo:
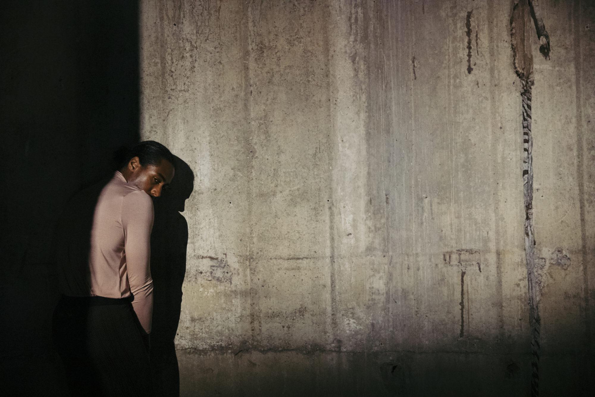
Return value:
<svg viewBox="0 0 595 397">
<path fill-rule="evenodd" d="M 130 299 L 62 295 L 54 345 L 72 396 L 151 396 L 148 345 Z"/>
</svg>

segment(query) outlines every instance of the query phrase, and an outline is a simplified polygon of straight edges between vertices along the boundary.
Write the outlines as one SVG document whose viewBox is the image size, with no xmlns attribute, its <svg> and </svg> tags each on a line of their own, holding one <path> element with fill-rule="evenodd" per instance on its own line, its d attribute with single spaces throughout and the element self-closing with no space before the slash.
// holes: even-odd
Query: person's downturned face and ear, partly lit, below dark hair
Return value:
<svg viewBox="0 0 595 397">
<path fill-rule="evenodd" d="M 174 166 L 167 160 L 159 165 L 142 166 L 138 157 L 133 157 L 126 167 L 124 176 L 129 184 L 142 189 L 149 196 L 159 197 L 164 187 L 174 179 Z"/>
</svg>

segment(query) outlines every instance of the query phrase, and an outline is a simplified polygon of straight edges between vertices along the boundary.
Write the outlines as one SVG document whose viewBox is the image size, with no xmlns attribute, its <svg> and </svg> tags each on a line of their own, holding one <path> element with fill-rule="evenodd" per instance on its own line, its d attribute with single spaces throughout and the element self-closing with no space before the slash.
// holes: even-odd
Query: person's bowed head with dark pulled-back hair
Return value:
<svg viewBox="0 0 595 397">
<path fill-rule="evenodd" d="M 116 160 L 126 181 L 149 196 L 161 196 L 162 189 L 174 178 L 174 156 L 159 142 L 143 141 L 132 149 L 121 148 Z"/>
</svg>

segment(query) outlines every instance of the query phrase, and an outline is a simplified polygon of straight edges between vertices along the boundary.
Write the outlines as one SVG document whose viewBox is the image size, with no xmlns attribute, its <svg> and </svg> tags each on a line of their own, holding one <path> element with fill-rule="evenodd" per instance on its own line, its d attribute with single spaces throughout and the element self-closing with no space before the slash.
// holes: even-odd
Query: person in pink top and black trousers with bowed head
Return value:
<svg viewBox="0 0 595 397">
<path fill-rule="evenodd" d="M 117 157 L 112 178 L 76 194 L 58 224 L 52 333 L 73 396 L 152 394 L 151 196 L 173 179 L 174 157 L 154 141 Z"/>
</svg>

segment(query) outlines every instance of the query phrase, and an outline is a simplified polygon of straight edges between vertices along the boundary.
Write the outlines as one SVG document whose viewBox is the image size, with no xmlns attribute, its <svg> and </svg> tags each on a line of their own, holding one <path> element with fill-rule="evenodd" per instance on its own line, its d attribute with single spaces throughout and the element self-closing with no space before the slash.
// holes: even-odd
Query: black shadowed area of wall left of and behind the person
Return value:
<svg viewBox="0 0 595 397">
<path fill-rule="evenodd" d="M 0 384 L 64 395 L 51 343 L 52 235 L 64 204 L 139 140 L 136 1 L 0 3 Z"/>
</svg>

